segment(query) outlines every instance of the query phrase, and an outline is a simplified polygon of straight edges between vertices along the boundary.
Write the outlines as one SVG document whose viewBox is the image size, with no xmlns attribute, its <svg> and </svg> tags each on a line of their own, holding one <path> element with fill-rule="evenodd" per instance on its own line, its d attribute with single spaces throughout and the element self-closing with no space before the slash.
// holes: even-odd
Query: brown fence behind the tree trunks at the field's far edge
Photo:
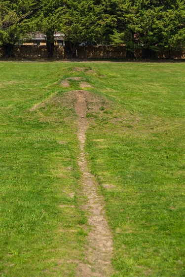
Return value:
<svg viewBox="0 0 185 277">
<path fill-rule="evenodd" d="M 113 47 L 109 45 L 98 46 L 79 46 L 76 50 L 76 58 L 79 59 L 126 59 L 128 58 L 125 46 Z M 14 55 L 17 59 L 47 59 L 47 47 L 37 45 L 21 45 L 14 47 Z M 3 49 L 0 46 L 0 57 L 3 56 Z M 65 47 L 55 46 L 54 59 L 66 59 Z M 145 49 L 137 49 L 135 51 L 136 59 L 145 58 Z M 168 52 L 154 53 L 152 58 L 156 59 L 185 59 L 185 50 L 171 51 L 169 57 Z"/>
</svg>

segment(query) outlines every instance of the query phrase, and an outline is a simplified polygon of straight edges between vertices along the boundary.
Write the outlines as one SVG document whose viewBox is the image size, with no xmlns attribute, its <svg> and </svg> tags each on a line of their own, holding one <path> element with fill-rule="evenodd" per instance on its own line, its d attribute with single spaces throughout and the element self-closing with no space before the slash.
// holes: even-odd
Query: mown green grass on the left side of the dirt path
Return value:
<svg viewBox="0 0 185 277">
<path fill-rule="evenodd" d="M 50 86 L 62 69 L 0 64 L 2 277 L 75 276 L 83 260 L 76 116 Z"/>
</svg>

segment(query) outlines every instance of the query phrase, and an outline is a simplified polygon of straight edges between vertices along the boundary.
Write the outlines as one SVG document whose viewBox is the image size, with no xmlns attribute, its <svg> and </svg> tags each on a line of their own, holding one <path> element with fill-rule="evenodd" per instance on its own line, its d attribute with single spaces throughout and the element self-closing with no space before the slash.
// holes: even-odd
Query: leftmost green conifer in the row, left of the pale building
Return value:
<svg viewBox="0 0 185 277">
<path fill-rule="evenodd" d="M 27 33 L 26 20 L 35 10 L 35 0 L 0 0 L 0 44 L 6 57 L 14 57 L 13 46 Z"/>
</svg>

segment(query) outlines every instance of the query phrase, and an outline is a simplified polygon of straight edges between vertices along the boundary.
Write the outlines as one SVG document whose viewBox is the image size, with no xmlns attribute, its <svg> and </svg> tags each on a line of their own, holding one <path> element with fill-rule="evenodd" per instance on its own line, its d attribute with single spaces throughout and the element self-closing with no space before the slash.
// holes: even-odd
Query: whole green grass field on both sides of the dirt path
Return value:
<svg viewBox="0 0 185 277">
<path fill-rule="evenodd" d="M 113 276 L 185 276 L 185 64 L 3 62 L 0 277 L 74 277 L 84 262 L 89 226 L 67 98 L 80 82 L 58 81 L 76 76 L 102 98 L 88 110 L 85 147 Z"/>
</svg>

